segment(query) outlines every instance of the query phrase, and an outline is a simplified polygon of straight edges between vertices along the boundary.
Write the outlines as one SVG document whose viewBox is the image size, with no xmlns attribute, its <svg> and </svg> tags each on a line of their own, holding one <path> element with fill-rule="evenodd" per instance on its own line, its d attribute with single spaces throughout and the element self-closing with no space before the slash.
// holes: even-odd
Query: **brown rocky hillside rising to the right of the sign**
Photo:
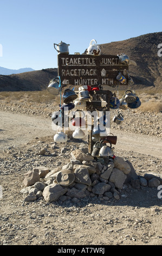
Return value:
<svg viewBox="0 0 162 256">
<path fill-rule="evenodd" d="M 159 44 L 162 44 L 162 32 L 102 44 L 100 48 L 102 54 L 125 53 L 137 63 L 137 66 L 129 66 L 129 75 L 135 84 L 162 87 L 162 57 L 158 56 Z"/>
</svg>

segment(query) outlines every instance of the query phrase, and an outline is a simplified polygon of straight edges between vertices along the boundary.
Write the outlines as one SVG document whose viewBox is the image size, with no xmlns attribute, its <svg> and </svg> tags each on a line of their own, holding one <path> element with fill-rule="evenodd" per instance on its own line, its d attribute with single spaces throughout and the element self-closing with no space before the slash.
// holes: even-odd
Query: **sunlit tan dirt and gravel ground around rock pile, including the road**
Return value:
<svg viewBox="0 0 162 256">
<path fill-rule="evenodd" d="M 66 163 L 69 154 L 65 158 L 60 148 L 56 157 L 36 154 L 40 145 L 44 147 L 41 137 L 51 136 L 53 142 L 50 117 L 1 111 L 0 121 L 0 245 L 161 245 L 157 187 L 134 190 L 128 186 L 120 200 L 112 198 L 107 203 L 100 197 L 79 203 L 47 203 L 43 199 L 24 203 L 20 193 L 24 173 L 34 164 L 53 167 Z M 118 136 L 114 151 L 126 156 L 138 174 L 150 170 L 161 173 L 161 138 L 115 129 L 111 132 Z M 73 145 L 66 147 L 70 150 Z"/>
</svg>

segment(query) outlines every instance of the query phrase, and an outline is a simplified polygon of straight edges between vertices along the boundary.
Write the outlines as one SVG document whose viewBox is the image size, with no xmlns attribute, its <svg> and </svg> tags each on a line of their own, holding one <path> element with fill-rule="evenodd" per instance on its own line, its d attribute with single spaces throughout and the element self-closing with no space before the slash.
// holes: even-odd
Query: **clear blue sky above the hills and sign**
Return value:
<svg viewBox="0 0 162 256">
<path fill-rule="evenodd" d="M 161 32 L 161 10 L 161 0 L 0 0 L 0 66 L 57 68 L 54 42 L 70 44 L 74 54 L 92 39 L 105 44 Z"/>
</svg>

